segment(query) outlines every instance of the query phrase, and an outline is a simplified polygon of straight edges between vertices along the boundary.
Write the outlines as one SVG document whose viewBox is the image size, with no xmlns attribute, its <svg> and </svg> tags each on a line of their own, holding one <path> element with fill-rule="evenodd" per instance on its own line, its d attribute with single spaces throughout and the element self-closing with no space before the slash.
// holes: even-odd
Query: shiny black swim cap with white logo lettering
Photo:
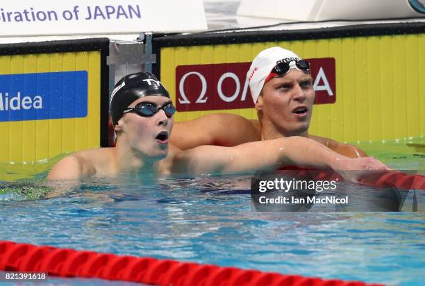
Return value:
<svg viewBox="0 0 425 286">
<path fill-rule="evenodd" d="M 110 117 L 114 125 L 122 117 L 122 112 L 140 97 L 156 95 L 169 97 L 164 85 L 150 72 L 128 74 L 121 78 L 110 94 Z"/>
</svg>

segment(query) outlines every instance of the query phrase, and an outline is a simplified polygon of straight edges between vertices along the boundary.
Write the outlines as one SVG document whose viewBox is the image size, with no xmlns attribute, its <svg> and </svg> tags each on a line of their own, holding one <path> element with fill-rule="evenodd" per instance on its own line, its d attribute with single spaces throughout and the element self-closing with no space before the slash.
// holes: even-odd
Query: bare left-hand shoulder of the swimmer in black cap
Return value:
<svg viewBox="0 0 425 286">
<path fill-rule="evenodd" d="M 51 169 L 48 180 L 75 180 L 108 173 L 111 165 L 112 148 L 78 151 L 67 155 Z"/>
</svg>

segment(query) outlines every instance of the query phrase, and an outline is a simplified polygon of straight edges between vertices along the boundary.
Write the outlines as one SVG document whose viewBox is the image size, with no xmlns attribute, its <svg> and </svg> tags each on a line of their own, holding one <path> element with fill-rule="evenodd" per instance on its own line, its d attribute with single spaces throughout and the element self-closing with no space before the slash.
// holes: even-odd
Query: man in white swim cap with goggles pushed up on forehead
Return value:
<svg viewBox="0 0 425 286">
<path fill-rule="evenodd" d="M 239 115 L 213 114 L 176 125 L 171 142 L 180 149 L 201 144 L 235 146 L 258 140 L 302 136 L 350 158 L 366 156 L 357 146 L 310 135 L 315 90 L 310 64 L 282 47 L 260 51 L 247 72 L 259 120 Z M 222 126 L 226 128 L 222 128 Z M 190 126 L 190 133 L 184 126 Z M 217 127 L 219 126 L 219 127 Z M 203 136 L 203 134 L 209 136 Z"/>
</svg>

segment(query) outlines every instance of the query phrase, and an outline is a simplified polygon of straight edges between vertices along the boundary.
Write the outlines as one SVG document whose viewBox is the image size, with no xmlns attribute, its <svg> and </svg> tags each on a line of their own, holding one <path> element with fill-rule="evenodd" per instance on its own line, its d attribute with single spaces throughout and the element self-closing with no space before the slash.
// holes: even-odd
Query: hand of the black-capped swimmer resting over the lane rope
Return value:
<svg viewBox="0 0 425 286">
<path fill-rule="evenodd" d="M 390 167 L 374 157 L 335 158 L 334 162 L 331 163 L 331 168 L 337 171 L 344 180 L 351 183 L 358 183 L 363 176 L 392 171 Z"/>
</svg>

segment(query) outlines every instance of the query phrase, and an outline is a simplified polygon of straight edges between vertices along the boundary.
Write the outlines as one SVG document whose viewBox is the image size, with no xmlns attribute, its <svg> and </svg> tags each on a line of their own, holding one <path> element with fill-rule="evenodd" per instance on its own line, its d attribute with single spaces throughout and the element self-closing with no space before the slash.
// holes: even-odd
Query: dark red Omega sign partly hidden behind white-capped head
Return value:
<svg viewBox="0 0 425 286">
<path fill-rule="evenodd" d="M 335 59 L 307 59 L 311 65 L 315 104 L 335 103 Z M 176 67 L 178 111 L 253 108 L 247 72 L 251 62 Z"/>
</svg>

